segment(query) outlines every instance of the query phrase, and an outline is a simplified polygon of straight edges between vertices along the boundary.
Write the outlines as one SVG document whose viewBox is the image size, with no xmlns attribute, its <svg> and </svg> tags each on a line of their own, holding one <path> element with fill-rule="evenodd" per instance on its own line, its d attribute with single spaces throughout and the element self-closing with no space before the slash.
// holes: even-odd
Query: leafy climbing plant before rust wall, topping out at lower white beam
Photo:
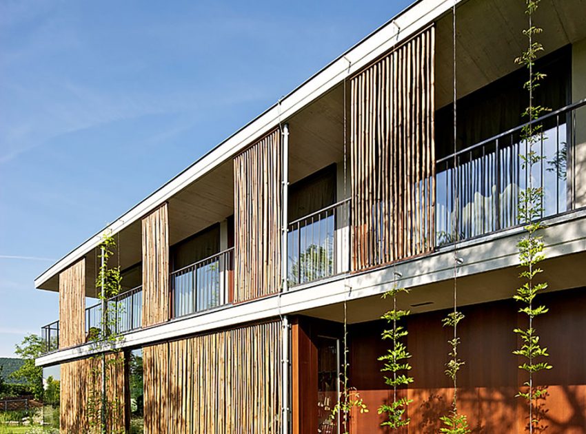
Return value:
<svg viewBox="0 0 586 434">
<path fill-rule="evenodd" d="M 383 298 L 392 297 L 393 299 L 393 309 L 387 311 L 382 317 L 389 324 L 392 324 L 392 329 L 385 329 L 382 333 L 383 340 L 392 342 L 392 348 L 388 349 L 385 355 L 381 355 L 378 358 L 378 360 L 385 362 L 381 371 L 391 373 L 390 376 L 385 375 L 385 383 L 393 388 L 392 402 L 379 406 L 378 414 L 385 413 L 387 416 L 387 420 L 382 422 L 381 426 L 390 426 L 392 429 L 398 429 L 409 424 L 410 417 L 403 417 L 403 415 L 407 410 L 407 406 L 413 402 L 407 397 L 397 397 L 398 387 L 407 386 L 413 382 L 413 378 L 406 374 L 411 369 L 411 365 L 407 362 L 411 354 L 407 351 L 407 345 L 403 343 L 408 331 L 398 324 L 410 313 L 410 311 L 397 309 L 397 296 L 401 292 L 409 293 L 409 289 L 398 287 L 395 278 L 392 289 L 383 294 Z"/>
</svg>

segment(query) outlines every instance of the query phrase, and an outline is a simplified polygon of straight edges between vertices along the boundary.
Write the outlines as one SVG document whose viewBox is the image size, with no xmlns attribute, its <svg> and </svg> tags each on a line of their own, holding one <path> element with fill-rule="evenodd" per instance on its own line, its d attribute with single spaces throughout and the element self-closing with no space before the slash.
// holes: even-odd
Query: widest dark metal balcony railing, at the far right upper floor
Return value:
<svg viewBox="0 0 586 434">
<path fill-rule="evenodd" d="M 576 127 L 584 130 L 585 121 L 586 100 L 534 121 L 543 125 L 544 133 L 534 145 L 540 161 L 532 171 L 532 184 L 543 189 L 542 217 L 574 209 Z M 523 165 L 528 146 L 521 140 L 522 128 L 437 161 L 436 246 L 519 224 L 519 197 L 529 182 Z"/>
</svg>

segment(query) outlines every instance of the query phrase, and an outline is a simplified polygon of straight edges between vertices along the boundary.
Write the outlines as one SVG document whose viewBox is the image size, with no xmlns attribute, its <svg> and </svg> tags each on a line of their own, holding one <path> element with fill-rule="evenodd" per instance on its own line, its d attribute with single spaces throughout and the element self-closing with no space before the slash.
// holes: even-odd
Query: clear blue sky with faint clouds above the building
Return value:
<svg viewBox="0 0 586 434">
<path fill-rule="evenodd" d="M 410 0 L 0 0 L 0 356 L 36 276 Z"/>
</svg>

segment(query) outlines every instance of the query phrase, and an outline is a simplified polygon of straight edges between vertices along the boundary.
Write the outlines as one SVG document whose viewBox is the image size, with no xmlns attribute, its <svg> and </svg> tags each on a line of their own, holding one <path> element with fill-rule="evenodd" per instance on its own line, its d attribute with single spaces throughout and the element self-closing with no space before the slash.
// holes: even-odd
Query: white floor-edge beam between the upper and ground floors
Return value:
<svg viewBox="0 0 586 434">
<path fill-rule="evenodd" d="M 586 209 L 548 219 L 547 224 L 547 229 L 544 229 L 547 258 L 559 258 L 586 251 Z M 458 268 L 458 276 L 471 276 L 518 265 L 516 243 L 521 234 L 523 234 L 523 228 L 518 227 L 458 245 L 460 256 L 465 258 L 463 265 Z M 553 234 L 556 235 L 552 236 Z M 480 247 L 482 251 L 478 253 L 481 250 Z M 172 320 L 148 329 L 139 329 L 126 334 L 121 347 L 140 347 L 194 333 L 234 327 L 246 322 L 278 318 L 307 309 L 325 307 L 341 303 L 345 299 L 357 300 L 381 295 L 388 290 L 389 285 L 392 285 L 394 270 L 402 274 L 403 277 L 398 283 L 406 288 L 449 280 L 453 278 L 453 251 L 453 246 L 447 247 L 430 256 L 401 262 L 396 267 L 349 275 L 345 280 L 343 276 L 337 276 L 327 282 L 315 282 L 313 285 L 291 289 L 287 293 L 223 307 L 190 318 Z M 496 256 L 494 251 L 499 251 L 501 254 Z M 350 293 L 348 287 L 352 288 Z M 49 366 L 91 353 L 91 344 L 85 344 L 43 355 L 37 358 L 36 364 Z"/>
</svg>

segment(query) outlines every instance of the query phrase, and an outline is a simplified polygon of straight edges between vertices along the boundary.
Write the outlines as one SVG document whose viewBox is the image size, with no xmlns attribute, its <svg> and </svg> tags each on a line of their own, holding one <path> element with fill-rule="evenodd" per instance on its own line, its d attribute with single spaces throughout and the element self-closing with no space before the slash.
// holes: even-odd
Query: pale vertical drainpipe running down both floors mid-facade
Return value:
<svg viewBox="0 0 586 434">
<path fill-rule="evenodd" d="M 287 266 L 288 266 L 288 250 L 287 250 L 287 226 L 288 226 L 288 216 L 287 211 L 289 209 L 289 124 L 285 123 L 283 125 L 283 130 L 281 132 L 283 136 L 283 183 L 281 185 L 281 192 L 283 198 L 283 214 L 281 215 L 281 224 L 283 225 L 281 229 L 281 293 L 285 293 L 288 291 L 287 285 Z M 283 434 L 289 434 L 289 424 L 290 424 L 290 411 L 289 411 L 289 317 L 286 315 L 283 316 L 283 330 L 282 330 L 282 384 L 281 384 L 281 397 L 283 400 L 283 415 L 282 415 L 282 425 L 281 431 Z"/>
</svg>

